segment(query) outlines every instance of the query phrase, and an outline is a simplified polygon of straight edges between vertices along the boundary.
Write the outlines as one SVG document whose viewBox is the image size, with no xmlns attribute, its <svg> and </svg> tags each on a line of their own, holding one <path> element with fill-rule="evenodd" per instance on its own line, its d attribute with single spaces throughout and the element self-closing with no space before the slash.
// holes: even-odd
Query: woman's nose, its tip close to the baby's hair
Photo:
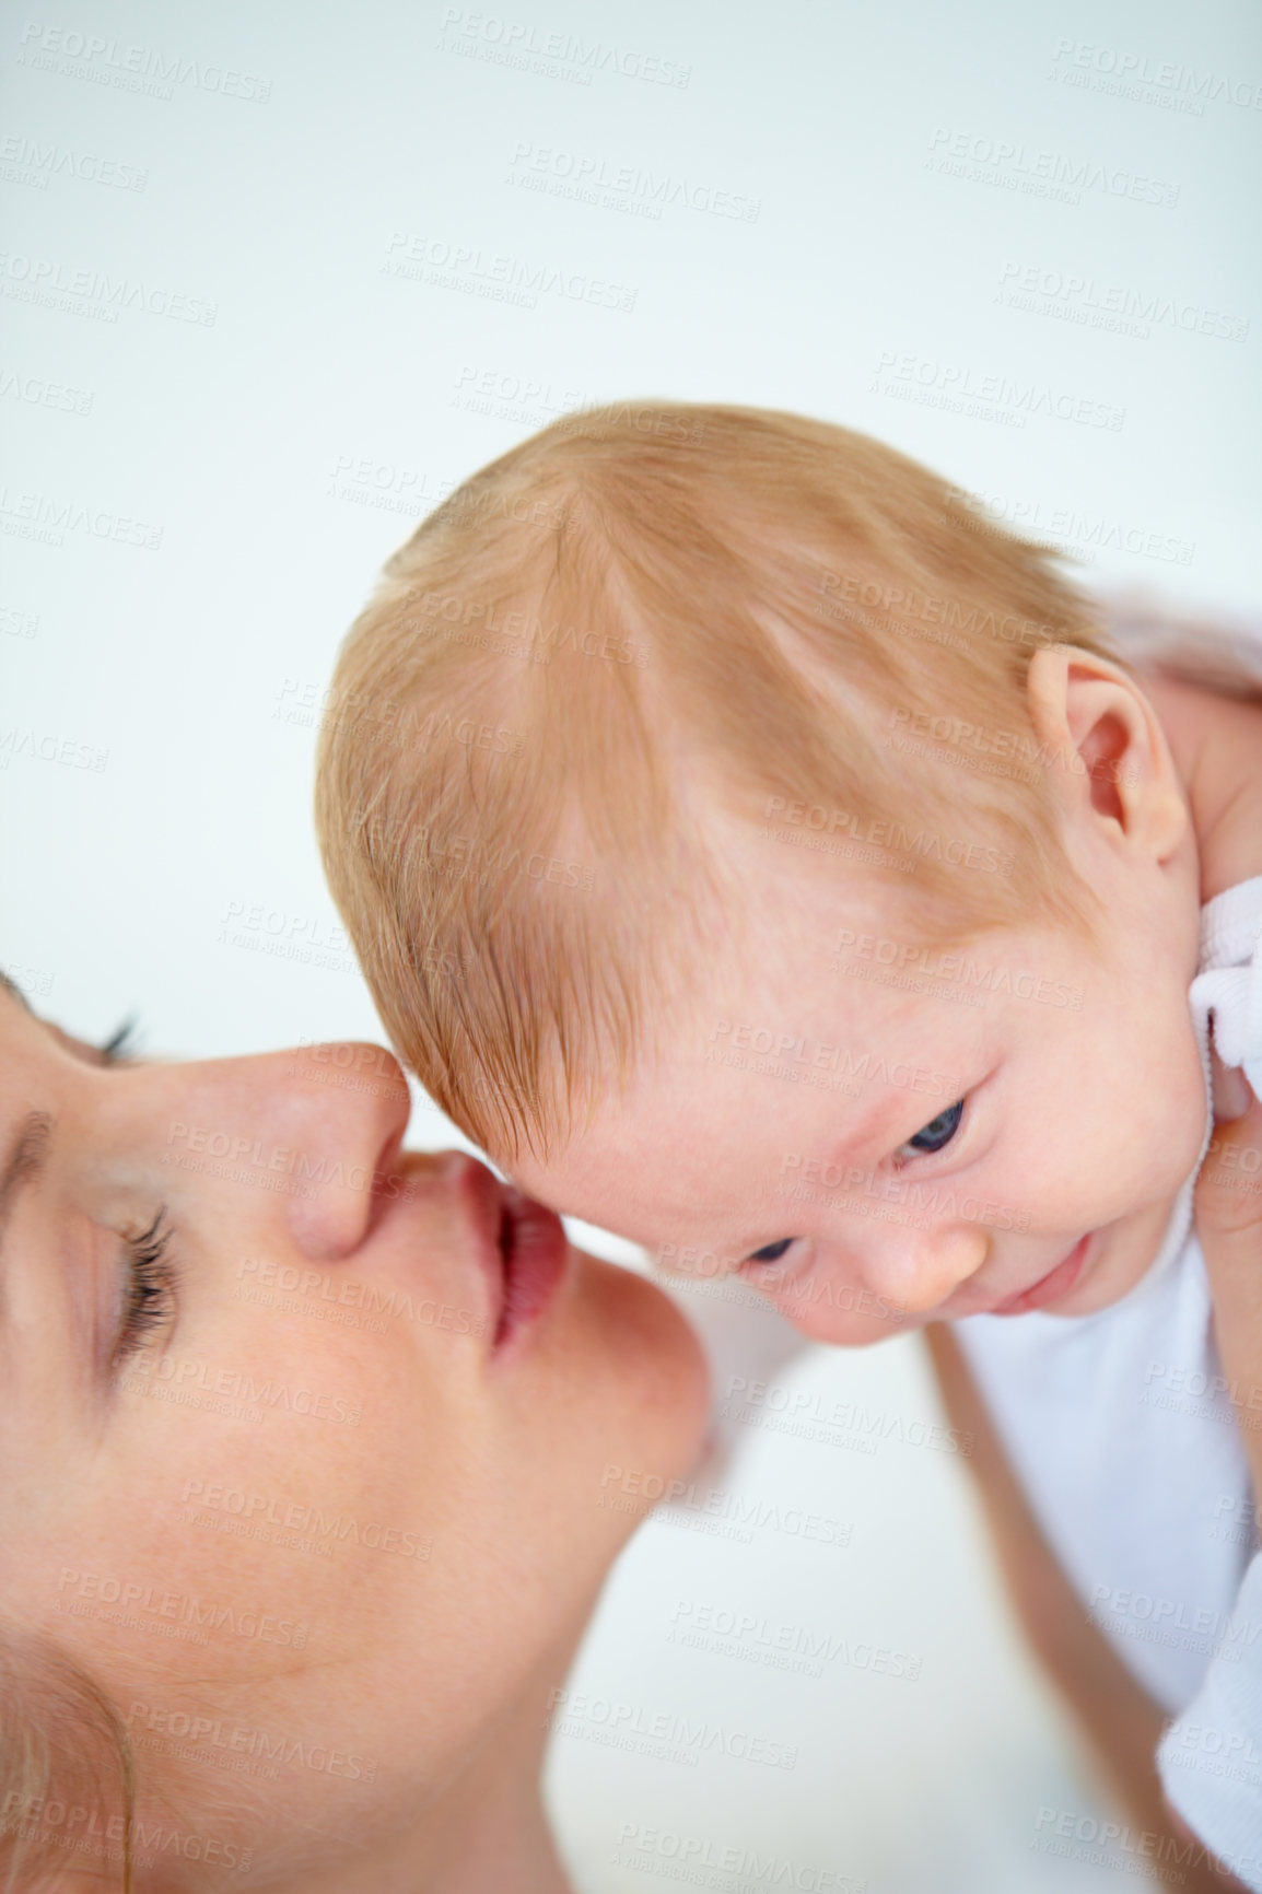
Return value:
<svg viewBox="0 0 1262 1894">
<path fill-rule="evenodd" d="M 203 1072 L 216 1091 L 199 1114 L 210 1129 L 189 1127 L 186 1138 L 189 1152 L 201 1142 L 220 1153 L 214 1169 L 199 1167 L 203 1174 L 254 1184 L 241 1191 L 246 1214 L 279 1208 L 313 1261 L 352 1254 L 388 1188 L 411 1110 L 392 1053 L 368 1044 L 303 1045 Z"/>
</svg>

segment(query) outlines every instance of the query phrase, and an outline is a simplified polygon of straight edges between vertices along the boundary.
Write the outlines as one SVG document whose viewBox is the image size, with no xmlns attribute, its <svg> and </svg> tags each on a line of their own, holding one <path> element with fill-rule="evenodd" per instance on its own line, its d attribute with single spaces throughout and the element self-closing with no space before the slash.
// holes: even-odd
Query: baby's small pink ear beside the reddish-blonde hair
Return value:
<svg viewBox="0 0 1262 1894">
<path fill-rule="evenodd" d="M 1035 652 L 1027 676 L 1038 761 L 1074 814 L 1110 824 L 1154 860 L 1188 831 L 1188 799 L 1165 731 L 1139 684 L 1076 644 Z"/>
</svg>

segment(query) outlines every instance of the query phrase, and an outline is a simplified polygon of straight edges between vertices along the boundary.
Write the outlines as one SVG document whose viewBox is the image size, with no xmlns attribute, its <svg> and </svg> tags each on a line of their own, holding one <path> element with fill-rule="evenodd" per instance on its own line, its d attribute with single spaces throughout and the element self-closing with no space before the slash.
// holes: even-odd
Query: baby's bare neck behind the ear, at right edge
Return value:
<svg viewBox="0 0 1262 1894">
<path fill-rule="evenodd" d="M 1192 805 L 1201 902 L 1262 875 L 1262 701 L 1222 697 L 1162 670 L 1139 682 Z"/>
</svg>

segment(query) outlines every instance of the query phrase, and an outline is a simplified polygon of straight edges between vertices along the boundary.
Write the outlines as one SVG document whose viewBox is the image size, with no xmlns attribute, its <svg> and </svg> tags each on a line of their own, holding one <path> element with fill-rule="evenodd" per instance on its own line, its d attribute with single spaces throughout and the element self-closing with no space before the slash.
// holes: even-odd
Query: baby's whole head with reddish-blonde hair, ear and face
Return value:
<svg viewBox="0 0 1262 1894">
<path fill-rule="evenodd" d="M 387 564 L 318 771 L 432 1097 L 811 1335 L 1084 1314 L 1205 1129 L 1173 759 L 1055 559 L 858 434 L 576 415 Z"/>
</svg>

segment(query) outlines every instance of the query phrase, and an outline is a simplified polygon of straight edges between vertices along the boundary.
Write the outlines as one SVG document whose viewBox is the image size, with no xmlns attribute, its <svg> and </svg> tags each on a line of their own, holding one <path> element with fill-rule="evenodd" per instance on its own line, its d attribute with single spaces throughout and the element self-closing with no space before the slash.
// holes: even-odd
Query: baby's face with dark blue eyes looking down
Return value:
<svg viewBox="0 0 1262 1894">
<path fill-rule="evenodd" d="M 1088 837 L 1099 947 L 1029 928 L 953 956 L 883 890 L 748 849 L 743 970 L 718 964 L 658 1064 L 517 1180 L 822 1341 L 1133 1288 L 1205 1133 L 1194 849 L 1137 864 Z"/>
</svg>

